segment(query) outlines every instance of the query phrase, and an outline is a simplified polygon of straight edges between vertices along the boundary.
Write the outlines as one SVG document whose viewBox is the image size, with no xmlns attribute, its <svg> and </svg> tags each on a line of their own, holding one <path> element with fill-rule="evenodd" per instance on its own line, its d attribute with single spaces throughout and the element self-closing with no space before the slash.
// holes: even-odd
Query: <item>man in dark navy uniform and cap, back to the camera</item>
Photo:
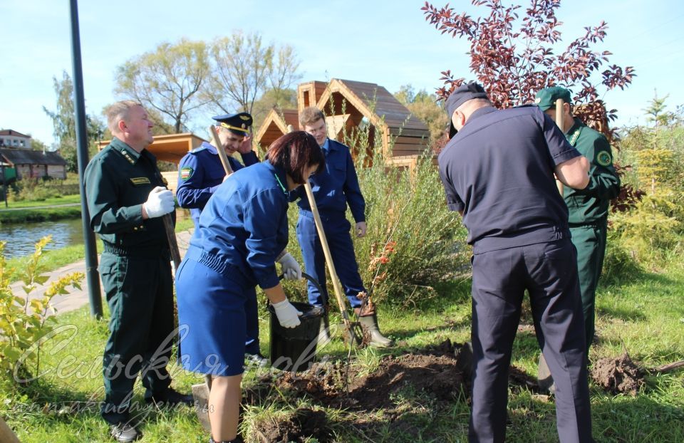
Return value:
<svg viewBox="0 0 684 443">
<path fill-rule="evenodd" d="M 477 83 L 447 99 L 452 139 L 439 156 L 447 205 L 472 257 L 470 442 L 504 442 L 508 370 L 524 291 L 556 380 L 560 441 L 591 442 L 585 340 L 568 212 L 554 174 L 576 189 L 589 163 L 536 106 L 497 110 Z"/>
</svg>

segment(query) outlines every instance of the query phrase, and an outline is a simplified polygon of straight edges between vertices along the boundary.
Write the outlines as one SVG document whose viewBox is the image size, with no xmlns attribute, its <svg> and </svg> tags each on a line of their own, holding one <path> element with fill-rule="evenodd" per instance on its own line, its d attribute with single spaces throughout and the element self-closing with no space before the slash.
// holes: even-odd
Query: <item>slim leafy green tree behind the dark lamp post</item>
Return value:
<svg viewBox="0 0 684 443">
<path fill-rule="evenodd" d="M 73 83 L 68 73 L 62 73 L 62 79 L 52 78 L 53 88 L 57 95 L 56 110 L 48 110 L 43 106 L 43 111 L 52 119 L 59 155 L 66 160 L 68 172 L 78 172 L 78 156 L 76 153 L 76 122 L 73 110 Z M 95 117 L 86 114 L 86 132 L 88 135 L 88 154 L 92 157 L 97 152 L 95 142 L 100 140 L 105 130 L 105 125 Z"/>
</svg>

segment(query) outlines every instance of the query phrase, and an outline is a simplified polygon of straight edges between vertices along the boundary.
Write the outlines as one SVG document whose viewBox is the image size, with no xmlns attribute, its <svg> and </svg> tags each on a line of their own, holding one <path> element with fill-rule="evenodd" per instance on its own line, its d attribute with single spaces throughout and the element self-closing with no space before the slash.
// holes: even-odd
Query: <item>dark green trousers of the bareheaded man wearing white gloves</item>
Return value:
<svg viewBox="0 0 684 443">
<path fill-rule="evenodd" d="M 127 421 L 138 373 L 145 397 L 165 390 L 171 379 L 173 288 L 168 254 L 156 258 L 105 252 L 100 276 L 110 311 L 110 335 L 103 355 L 105 401 L 102 416 L 111 424 Z"/>
</svg>

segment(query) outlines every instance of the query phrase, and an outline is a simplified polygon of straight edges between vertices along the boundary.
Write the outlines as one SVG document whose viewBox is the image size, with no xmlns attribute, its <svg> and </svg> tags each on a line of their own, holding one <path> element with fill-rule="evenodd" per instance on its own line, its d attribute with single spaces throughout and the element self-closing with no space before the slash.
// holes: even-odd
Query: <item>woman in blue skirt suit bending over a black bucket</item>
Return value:
<svg viewBox="0 0 684 443">
<path fill-rule="evenodd" d="M 324 167 L 306 132 L 276 140 L 266 161 L 232 174 L 212 195 L 176 276 L 182 365 L 211 375 L 209 442 L 237 438 L 244 363 L 244 302 L 259 285 L 281 325 L 299 325 L 275 262 L 288 240 L 289 192 Z"/>
</svg>

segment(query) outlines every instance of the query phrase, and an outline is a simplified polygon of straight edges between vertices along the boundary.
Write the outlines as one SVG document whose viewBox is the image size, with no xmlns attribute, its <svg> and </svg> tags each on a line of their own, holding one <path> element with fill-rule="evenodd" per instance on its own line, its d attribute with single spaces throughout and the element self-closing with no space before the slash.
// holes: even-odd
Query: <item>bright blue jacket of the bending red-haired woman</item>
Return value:
<svg viewBox="0 0 684 443">
<path fill-rule="evenodd" d="M 242 168 L 214 192 L 190 244 L 272 288 L 279 282 L 276 256 L 287 246 L 288 197 L 283 170 L 268 161 Z"/>
</svg>

